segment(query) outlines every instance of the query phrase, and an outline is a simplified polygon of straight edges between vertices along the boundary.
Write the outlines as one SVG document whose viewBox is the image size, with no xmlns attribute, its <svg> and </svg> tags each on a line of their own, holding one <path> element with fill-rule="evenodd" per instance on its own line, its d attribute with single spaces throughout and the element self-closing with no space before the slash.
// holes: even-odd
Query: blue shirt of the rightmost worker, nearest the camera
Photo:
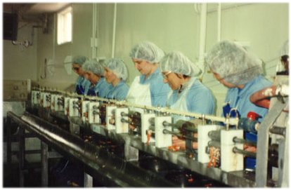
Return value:
<svg viewBox="0 0 291 190">
<path fill-rule="evenodd" d="M 246 118 L 250 111 L 254 111 L 261 116 L 261 121 L 264 116 L 268 113 L 268 109 L 264 107 L 258 107 L 257 105 L 250 102 L 250 96 L 266 87 L 271 86 L 271 81 L 268 81 L 264 76 L 257 76 L 245 84 L 243 89 L 240 88 L 229 88 L 226 93 L 226 102 L 230 102 L 231 107 L 238 107 L 240 117 Z"/>
</svg>

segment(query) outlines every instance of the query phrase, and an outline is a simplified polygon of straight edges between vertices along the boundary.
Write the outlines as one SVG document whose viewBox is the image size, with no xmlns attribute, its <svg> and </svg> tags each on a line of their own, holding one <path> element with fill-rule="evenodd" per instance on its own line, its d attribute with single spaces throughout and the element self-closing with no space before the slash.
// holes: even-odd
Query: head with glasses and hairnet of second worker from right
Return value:
<svg viewBox="0 0 291 190">
<path fill-rule="evenodd" d="M 165 55 L 160 61 L 160 68 L 164 83 L 168 83 L 172 90 L 179 88 L 191 76 L 200 74 L 199 67 L 179 51 Z"/>
</svg>

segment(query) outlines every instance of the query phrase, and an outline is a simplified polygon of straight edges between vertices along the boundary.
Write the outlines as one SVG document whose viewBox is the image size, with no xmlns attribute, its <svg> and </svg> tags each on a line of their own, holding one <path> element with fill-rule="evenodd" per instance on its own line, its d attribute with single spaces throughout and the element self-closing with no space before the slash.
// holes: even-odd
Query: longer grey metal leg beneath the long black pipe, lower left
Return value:
<svg viewBox="0 0 291 190">
<path fill-rule="evenodd" d="M 41 141 L 41 186 L 48 186 L 48 145 Z"/>
</svg>

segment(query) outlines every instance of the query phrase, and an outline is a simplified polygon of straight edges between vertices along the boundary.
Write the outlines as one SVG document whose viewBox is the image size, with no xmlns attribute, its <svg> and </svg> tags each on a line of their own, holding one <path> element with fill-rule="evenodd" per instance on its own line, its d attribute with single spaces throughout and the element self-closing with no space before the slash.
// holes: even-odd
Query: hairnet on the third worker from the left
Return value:
<svg viewBox="0 0 291 190">
<path fill-rule="evenodd" d="M 119 79 L 127 80 L 127 67 L 123 60 L 111 58 L 103 63 L 104 67 L 107 67 L 112 71 Z"/>
</svg>

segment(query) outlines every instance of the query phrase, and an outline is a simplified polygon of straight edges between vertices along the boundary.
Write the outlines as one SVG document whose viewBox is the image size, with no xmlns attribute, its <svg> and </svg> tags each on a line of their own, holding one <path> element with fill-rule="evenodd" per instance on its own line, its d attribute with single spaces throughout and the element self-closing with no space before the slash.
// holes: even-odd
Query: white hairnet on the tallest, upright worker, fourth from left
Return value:
<svg viewBox="0 0 291 190">
<path fill-rule="evenodd" d="M 155 43 L 145 41 L 136 44 L 136 46 L 131 49 L 129 56 L 134 59 L 155 63 L 160 62 L 162 57 L 164 57 L 164 51 L 157 47 Z"/>
</svg>

